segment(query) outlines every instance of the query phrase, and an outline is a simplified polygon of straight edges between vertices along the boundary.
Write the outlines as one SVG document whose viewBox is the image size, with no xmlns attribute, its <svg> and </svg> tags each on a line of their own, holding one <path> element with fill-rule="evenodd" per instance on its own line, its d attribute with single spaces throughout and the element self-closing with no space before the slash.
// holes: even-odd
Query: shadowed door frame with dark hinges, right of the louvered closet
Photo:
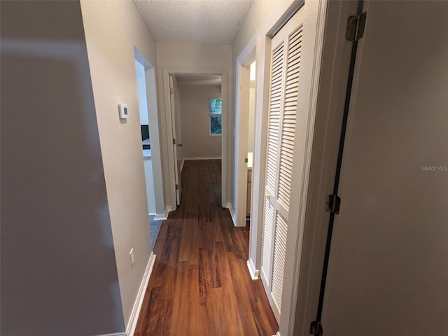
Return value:
<svg viewBox="0 0 448 336">
<path fill-rule="evenodd" d="M 330 218 L 330 213 L 325 211 L 325 202 L 327 195 L 332 194 L 335 181 L 344 115 L 352 44 L 345 41 L 346 20 L 350 15 L 356 15 L 358 0 L 325 2 L 325 18 L 318 18 L 320 30 L 316 38 L 317 43 L 321 36 L 325 36 L 321 49 L 323 60 L 319 61 L 321 73 L 316 73 L 318 83 L 314 83 L 313 87 L 314 139 L 312 148 L 311 144 L 309 147 L 309 182 L 307 190 L 304 190 L 308 202 L 300 216 L 302 228 L 296 236 L 300 243 L 297 244 L 297 249 L 287 250 L 296 253 L 297 257 L 293 269 L 286 269 L 285 272 L 285 276 L 288 274 L 288 281 L 292 280 L 293 292 L 288 328 L 283 328 L 286 330 L 283 332 L 280 327 L 281 335 L 308 335 L 310 323 L 316 319 Z M 322 3 L 322 7 L 323 5 Z M 323 8 L 318 13 L 322 13 L 321 10 Z"/>
</svg>

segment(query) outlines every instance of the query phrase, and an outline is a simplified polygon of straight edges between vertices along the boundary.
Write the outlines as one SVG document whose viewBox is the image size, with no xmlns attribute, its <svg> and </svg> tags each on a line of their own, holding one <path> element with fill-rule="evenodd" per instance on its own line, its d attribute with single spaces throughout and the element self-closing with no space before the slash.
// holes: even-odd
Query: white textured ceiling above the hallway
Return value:
<svg viewBox="0 0 448 336">
<path fill-rule="evenodd" d="M 232 44 L 252 0 L 134 0 L 155 41 Z"/>
</svg>

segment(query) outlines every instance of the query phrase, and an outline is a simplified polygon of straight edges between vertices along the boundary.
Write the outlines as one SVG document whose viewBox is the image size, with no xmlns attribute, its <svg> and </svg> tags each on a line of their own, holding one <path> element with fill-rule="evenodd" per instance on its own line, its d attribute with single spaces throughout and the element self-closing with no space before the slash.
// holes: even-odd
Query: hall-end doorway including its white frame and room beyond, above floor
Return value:
<svg viewBox="0 0 448 336">
<path fill-rule="evenodd" d="M 181 172 L 188 160 L 220 160 L 220 204 L 225 205 L 225 71 L 164 69 L 164 79 L 172 209 L 181 204 Z"/>
</svg>

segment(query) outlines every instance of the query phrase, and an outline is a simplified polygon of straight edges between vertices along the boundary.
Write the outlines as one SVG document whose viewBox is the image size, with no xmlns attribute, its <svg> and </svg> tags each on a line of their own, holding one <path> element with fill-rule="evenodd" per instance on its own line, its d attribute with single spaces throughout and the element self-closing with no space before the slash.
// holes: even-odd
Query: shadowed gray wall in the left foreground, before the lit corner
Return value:
<svg viewBox="0 0 448 336">
<path fill-rule="evenodd" d="M 1 1 L 1 335 L 123 332 L 78 1 Z"/>
</svg>

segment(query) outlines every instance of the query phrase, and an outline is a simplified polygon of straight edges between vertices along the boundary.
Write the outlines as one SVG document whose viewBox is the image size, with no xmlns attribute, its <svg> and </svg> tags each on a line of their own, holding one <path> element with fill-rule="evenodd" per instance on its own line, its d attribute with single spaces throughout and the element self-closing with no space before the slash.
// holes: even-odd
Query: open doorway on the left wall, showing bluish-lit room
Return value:
<svg viewBox="0 0 448 336">
<path fill-rule="evenodd" d="M 148 222 L 151 226 L 151 245 L 165 219 L 165 204 L 162 189 L 162 165 L 160 160 L 160 138 L 158 130 L 157 94 L 154 67 L 134 48 L 139 116 L 141 125 L 141 150 L 144 164 Z"/>
</svg>

